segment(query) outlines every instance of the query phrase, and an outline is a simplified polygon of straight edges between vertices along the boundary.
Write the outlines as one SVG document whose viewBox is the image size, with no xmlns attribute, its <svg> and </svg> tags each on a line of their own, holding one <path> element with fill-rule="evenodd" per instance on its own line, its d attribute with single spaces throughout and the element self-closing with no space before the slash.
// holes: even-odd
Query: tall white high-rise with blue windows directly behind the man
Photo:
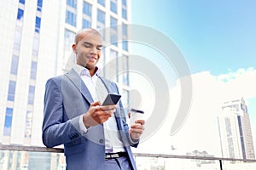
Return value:
<svg viewBox="0 0 256 170">
<path fill-rule="evenodd" d="M 69 69 L 74 62 L 71 45 L 77 31 L 85 27 L 109 27 L 111 44 L 103 48 L 102 75 L 116 73 L 123 102 L 128 105 L 129 46 L 118 41 L 127 37 L 131 19 L 130 0 L 65 0 L 0 2 L 0 143 L 42 145 L 41 128 L 44 85 Z M 117 26 L 119 25 L 119 26 Z M 111 61 L 111 62 L 109 62 Z"/>
</svg>

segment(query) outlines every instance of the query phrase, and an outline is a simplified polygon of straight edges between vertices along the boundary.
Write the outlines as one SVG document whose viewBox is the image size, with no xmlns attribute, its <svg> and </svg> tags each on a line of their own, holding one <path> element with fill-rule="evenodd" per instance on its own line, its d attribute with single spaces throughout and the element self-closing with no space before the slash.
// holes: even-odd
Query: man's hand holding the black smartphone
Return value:
<svg viewBox="0 0 256 170">
<path fill-rule="evenodd" d="M 89 110 L 83 116 L 85 127 L 96 126 L 108 121 L 108 118 L 116 111 L 117 105 L 101 105 L 100 102 L 94 102 Z"/>
</svg>

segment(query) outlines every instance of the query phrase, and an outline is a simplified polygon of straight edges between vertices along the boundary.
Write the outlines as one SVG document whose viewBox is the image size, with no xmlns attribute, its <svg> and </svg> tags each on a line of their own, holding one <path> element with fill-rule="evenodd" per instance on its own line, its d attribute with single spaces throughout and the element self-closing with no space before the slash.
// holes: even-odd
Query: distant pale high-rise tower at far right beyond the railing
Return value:
<svg viewBox="0 0 256 170">
<path fill-rule="evenodd" d="M 224 102 L 218 128 L 223 157 L 255 159 L 250 118 L 243 98 Z"/>
</svg>

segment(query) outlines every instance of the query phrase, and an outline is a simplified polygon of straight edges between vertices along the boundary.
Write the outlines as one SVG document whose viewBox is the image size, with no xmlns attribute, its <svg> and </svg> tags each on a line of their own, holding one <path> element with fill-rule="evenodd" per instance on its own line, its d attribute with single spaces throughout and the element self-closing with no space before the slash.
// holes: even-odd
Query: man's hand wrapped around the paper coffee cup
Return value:
<svg viewBox="0 0 256 170">
<path fill-rule="evenodd" d="M 144 131 L 144 126 L 143 126 L 144 124 L 145 124 L 145 121 L 137 120 L 134 125 L 131 125 L 131 128 L 130 128 L 131 139 L 133 140 L 140 139 Z"/>
</svg>

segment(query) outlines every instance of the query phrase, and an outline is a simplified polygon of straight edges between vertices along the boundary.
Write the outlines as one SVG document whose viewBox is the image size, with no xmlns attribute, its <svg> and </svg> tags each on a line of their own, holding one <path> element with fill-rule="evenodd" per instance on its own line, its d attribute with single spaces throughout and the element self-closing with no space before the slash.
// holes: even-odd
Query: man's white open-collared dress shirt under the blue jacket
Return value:
<svg viewBox="0 0 256 170">
<path fill-rule="evenodd" d="M 76 71 L 84 84 L 90 91 L 90 95 L 94 101 L 100 101 L 101 103 L 107 97 L 108 90 L 105 88 L 102 80 L 97 76 L 99 69 L 91 77 L 88 69 L 84 68 L 81 65 L 73 65 L 74 71 Z M 105 135 L 105 150 L 106 152 L 119 152 L 125 151 L 124 144 L 122 143 L 117 123 L 113 116 L 108 118 L 107 122 L 103 123 L 104 126 L 104 135 Z M 79 127 L 82 134 L 86 134 L 90 127 L 87 129 L 84 126 L 83 115 L 79 117 Z"/>
</svg>

